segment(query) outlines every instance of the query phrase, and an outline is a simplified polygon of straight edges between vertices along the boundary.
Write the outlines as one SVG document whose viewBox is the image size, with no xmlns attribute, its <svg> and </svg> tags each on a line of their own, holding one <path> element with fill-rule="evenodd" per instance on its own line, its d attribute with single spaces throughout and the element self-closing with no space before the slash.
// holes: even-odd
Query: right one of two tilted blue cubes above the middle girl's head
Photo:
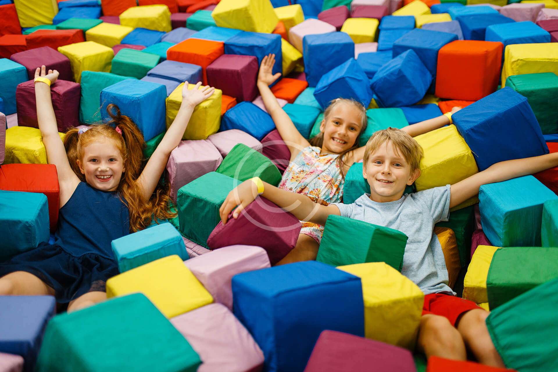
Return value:
<svg viewBox="0 0 558 372">
<path fill-rule="evenodd" d="M 382 107 L 410 106 L 420 101 L 432 84 L 432 75 L 410 49 L 383 65 L 371 81 Z"/>
</svg>

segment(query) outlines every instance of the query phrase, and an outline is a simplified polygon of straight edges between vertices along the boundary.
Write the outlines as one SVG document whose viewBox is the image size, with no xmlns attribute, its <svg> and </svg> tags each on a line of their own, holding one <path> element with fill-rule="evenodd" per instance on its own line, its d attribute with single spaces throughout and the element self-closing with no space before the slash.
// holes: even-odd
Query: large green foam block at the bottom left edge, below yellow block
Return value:
<svg viewBox="0 0 558 372">
<path fill-rule="evenodd" d="M 142 293 L 53 317 L 37 372 L 194 372 L 199 355 Z"/>
</svg>

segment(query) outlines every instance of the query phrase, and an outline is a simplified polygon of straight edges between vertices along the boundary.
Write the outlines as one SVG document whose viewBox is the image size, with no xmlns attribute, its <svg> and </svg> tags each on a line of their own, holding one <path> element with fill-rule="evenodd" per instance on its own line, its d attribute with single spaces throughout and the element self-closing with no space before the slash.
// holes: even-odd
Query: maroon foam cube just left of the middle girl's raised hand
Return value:
<svg viewBox="0 0 558 372">
<path fill-rule="evenodd" d="M 254 56 L 224 54 L 207 67 L 208 85 L 235 97 L 237 102 L 252 101 L 258 95 L 258 68 Z"/>
</svg>

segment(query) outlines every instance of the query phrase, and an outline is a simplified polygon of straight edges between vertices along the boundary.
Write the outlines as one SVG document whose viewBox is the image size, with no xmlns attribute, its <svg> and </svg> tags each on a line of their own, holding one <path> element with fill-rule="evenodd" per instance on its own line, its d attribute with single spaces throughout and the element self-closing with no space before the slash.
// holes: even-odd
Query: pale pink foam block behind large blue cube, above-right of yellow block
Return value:
<svg viewBox="0 0 558 372">
<path fill-rule="evenodd" d="M 261 247 L 237 245 L 215 249 L 194 260 L 184 261 L 184 265 L 211 293 L 215 302 L 233 310 L 232 277 L 270 267 L 270 259 Z"/>
</svg>

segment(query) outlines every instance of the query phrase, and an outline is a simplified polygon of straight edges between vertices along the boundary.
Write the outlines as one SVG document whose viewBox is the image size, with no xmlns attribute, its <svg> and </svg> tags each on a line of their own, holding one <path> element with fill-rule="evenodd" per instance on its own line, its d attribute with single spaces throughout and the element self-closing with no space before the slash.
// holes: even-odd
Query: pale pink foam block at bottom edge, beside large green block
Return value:
<svg viewBox="0 0 558 372">
<path fill-rule="evenodd" d="M 210 304 L 170 321 L 203 360 L 198 372 L 262 370 L 262 350 L 227 307 Z"/>
</svg>

